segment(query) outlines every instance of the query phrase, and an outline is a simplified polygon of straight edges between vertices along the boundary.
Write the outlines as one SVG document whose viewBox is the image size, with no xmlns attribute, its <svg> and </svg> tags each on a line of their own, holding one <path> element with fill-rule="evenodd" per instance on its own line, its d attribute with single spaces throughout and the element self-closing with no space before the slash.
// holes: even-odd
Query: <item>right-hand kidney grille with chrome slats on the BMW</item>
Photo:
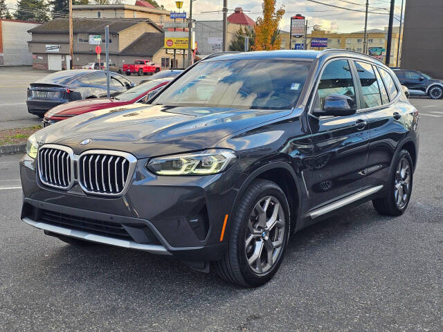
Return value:
<svg viewBox="0 0 443 332">
<path fill-rule="evenodd" d="M 130 181 L 136 158 L 118 151 L 91 150 L 80 156 L 78 180 L 85 192 L 118 195 Z"/>
</svg>

